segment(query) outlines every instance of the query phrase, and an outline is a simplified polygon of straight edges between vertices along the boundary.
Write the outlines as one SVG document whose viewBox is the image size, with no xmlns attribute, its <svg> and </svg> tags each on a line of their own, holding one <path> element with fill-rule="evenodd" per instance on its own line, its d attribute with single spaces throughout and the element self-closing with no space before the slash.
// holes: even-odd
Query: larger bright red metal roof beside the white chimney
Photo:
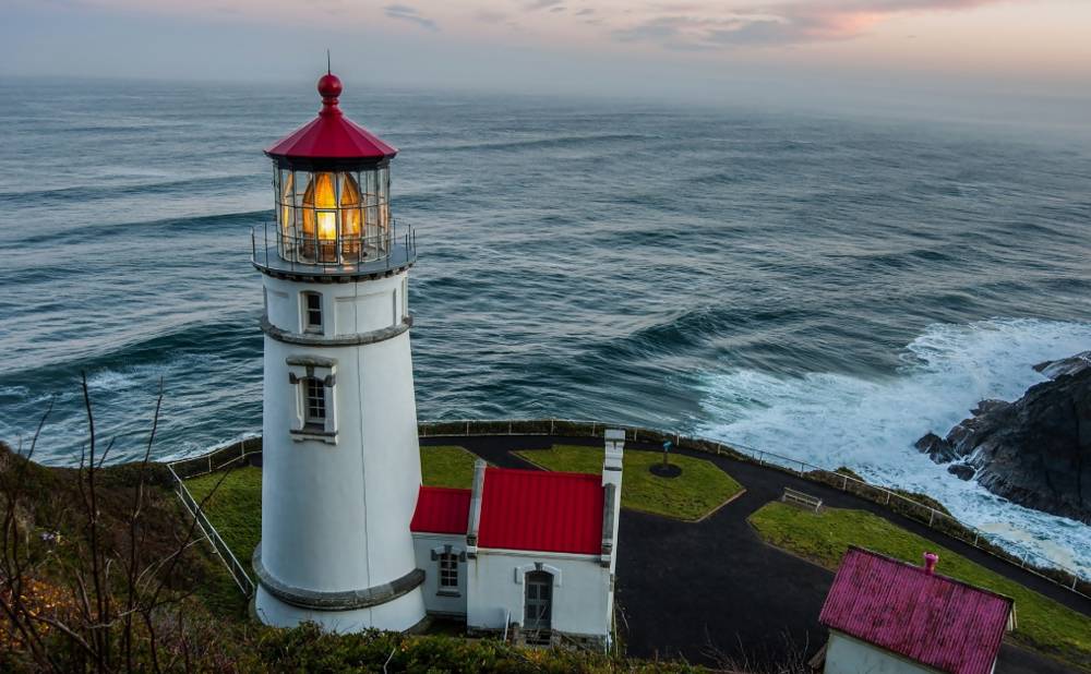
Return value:
<svg viewBox="0 0 1091 674">
<path fill-rule="evenodd" d="M 599 554 L 602 502 L 599 476 L 490 467 L 478 545 Z"/>
</svg>

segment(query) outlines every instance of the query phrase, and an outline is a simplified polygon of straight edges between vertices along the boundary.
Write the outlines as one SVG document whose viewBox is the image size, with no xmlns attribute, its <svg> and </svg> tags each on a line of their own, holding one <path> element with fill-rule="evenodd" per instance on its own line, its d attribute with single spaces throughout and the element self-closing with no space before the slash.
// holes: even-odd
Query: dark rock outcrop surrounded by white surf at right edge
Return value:
<svg viewBox="0 0 1091 674">
<path fill-rule="evenodd" d="M 916 448 L 1020 505 L 1091 523 L 1091 351 L 1039 363 L 1050 377 L 1015 402 L 982 400 Z"/>
</svg>

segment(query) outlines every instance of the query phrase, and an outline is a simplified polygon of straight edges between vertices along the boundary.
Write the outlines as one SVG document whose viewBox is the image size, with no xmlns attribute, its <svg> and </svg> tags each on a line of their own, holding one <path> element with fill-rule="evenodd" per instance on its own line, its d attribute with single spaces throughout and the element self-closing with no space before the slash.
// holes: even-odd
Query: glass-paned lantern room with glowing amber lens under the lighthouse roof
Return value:
<svg viewBox="0 0 1091 674">
<path fill-rule="evenodd" d="M 391 252 L 389 169 L 277 169 L 278 252 L 289 262 L 352 265 Z"/>
</svg>

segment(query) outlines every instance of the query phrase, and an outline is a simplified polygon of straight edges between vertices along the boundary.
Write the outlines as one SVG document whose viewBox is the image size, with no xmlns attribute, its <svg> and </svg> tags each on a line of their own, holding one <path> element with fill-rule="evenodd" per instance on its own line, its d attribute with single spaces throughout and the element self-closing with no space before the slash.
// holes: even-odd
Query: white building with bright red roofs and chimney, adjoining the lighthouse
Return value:
<svg viewBox="0 0 1091 674">
<path fill-rule="evenodd" d="M 410 528 L 429 613 L 529 642 L 609 643 L 624 444 L 607 431 L 601 477 L 479 460 L 471 489 L 421 486 Z"/>
</svg>

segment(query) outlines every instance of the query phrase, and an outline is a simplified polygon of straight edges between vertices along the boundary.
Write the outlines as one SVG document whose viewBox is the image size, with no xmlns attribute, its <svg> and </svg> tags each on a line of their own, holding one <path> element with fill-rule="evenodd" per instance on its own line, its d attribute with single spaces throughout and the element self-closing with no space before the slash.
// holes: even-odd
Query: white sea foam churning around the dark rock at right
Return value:
<svg viewBox="0 0 1091 674">
<path fill-rule="evenodd" d="M 1035 363 L 1089 346 L 1088 323 L 997 318 L 930 326 L 906 348 L 899 372 L 884 380 L 714 374 L 703 406 L 715 421 L 700 433 L 931 494 L 1007 547 L 1091 576 L 1091 527 L 999 498 L 912 446 L 927 431 L 946 434 L 979 400 L 1014 400 L 1044 381 Z"/>
</svg>

